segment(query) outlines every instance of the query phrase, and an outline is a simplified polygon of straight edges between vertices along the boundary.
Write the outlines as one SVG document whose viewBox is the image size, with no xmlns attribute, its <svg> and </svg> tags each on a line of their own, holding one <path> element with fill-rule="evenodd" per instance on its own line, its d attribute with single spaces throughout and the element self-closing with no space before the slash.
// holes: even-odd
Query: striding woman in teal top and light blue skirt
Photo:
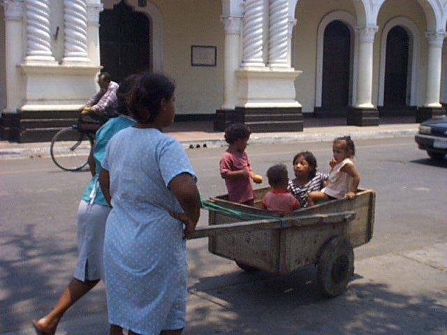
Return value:
<svg viewBox="0 0 447 335">
<path fill-rule="evenodd" d="M 127 115 L 125 95 L 133 88 L 137 77 L 138 75 L 131 75 L 119 85 L 117 91 L 119 116 L 107 121 L 96 132 L 94 150 L 89 157 L 92 177 L 82 194 L 78 208 L 78 263 L 73 278 L 62 292 L 56 306 L 43 318 L 33 320 L 33 326 L 38 335 L 54 334 L 59 320 L 68 308 L 103 279 L 104 231 L 110 206 L 99 187 L 98 174 L 105 147 L 110 138 L 118 131 L 135 124 L 135 121 Z"/>
</svg>

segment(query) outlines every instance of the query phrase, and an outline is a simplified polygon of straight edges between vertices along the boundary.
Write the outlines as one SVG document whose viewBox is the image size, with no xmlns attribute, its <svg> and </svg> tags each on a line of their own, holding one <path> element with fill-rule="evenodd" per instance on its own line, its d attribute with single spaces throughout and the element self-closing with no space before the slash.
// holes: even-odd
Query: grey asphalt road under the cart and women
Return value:
<svg viewBox="0 0 447 335">
<path fill-rule="evenodd" d="M 187 151 L 204 198 L 226 193 L 218 171 L 224 149 Z M 290 177 L 291 159 L 302 150 L 313 151 L 328 172 L 330 142 L 247 148 L 256 173 L 282 162 Z M 189 241 L 184 334 L 447 334 L 447 267 L 424 266 L 447 244 L 447 160 L 430 161 L 412 136 L 358 140 L 356 151 L 360 186 L 377 193 L 376 220 L 372 241 L 355 250 L 346 293 L 319 297 L 313 268 L 284 277 L 246 274 L 208 253 L 206 239 Z M 0 160 L 0 334 L 33 334 L 30 320 L 52 307 L 71 278 L 75 215 L 88 180 L 87 170 L 64 172 L 49 158 Z M 205 211 L 199 224 L 207 224 Z M 420 262 L 408 273 L 414 259 Z M 58 334 L 106 334 L 105 311 L 100 285 L 66 313 Z"/>
</svg>

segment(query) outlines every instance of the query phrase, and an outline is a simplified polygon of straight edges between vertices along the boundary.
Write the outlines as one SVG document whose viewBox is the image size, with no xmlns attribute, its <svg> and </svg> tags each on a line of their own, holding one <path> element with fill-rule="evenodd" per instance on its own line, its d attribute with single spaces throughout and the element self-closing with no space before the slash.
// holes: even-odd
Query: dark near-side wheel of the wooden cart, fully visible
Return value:
<svg viewBox="0 0 447 335">
<path fill-rule="evenodd" d="M 318 287 L 325 297 L 341 295 L 354 273 L 354 252 L 349 241 L 337 236 L 321 249 L 318 259 Z"/>
</svg>

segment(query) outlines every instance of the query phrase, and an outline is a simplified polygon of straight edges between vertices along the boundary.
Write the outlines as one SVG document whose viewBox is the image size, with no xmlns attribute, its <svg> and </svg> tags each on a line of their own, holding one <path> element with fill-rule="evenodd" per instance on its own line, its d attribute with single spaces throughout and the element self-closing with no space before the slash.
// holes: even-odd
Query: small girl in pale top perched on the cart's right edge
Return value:
<svg viewBox="0 0 447 335">
<path fill-rule="evenodd" d="M 356 147 L 350 136 L 337 137 L 332 143 L 334 157 L 329 164 L 328 186 L 321 191 L 309 193 L 307 200 L 313 206 L 318 200 L 353 199 L 360 183 L 360 174 L 356 169 L 353 157 Z"/>
</svg>

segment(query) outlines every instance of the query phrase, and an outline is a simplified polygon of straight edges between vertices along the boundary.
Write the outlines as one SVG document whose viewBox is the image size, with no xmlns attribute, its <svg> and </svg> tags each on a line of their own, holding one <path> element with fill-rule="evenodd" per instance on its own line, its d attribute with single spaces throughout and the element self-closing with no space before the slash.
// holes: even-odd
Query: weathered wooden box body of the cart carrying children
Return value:
<svg viewBox="0 0 447 335">
<path fill-rule="evenodd" d="M 267 188 L 255 190 L 256 198 L 262 199 Z M 235 204 L 226 200 L 226 196 L 212 198 L 216 204 L 228 209 L 247 214 L 274 215 L 260 208 Z M 321 246 L 330 237 L 343 236 L 352 246 L 367 243 L 372 237 L 374 223 L 375 193 L 360 190 L 353 200 L 334 200 L 308 209 L 301 209 L 286 216 L 312 216 L 314 214 L 331 214 L 342 211 L 356 212 L 356 218 L 347 223 L 318 223 L 293 228 L 261 230 L 238 234 L 226 234 L 209 238 L 208 248 L 211 253 L 220 255 L 245 265 L 257 267 L 277 274 L 287 274 L 299 267 L 312 264 L 318 260 Z M 233 223 L 241 221 L 237 216 L 209 212 L 209 224 Z"/>
</svg>

